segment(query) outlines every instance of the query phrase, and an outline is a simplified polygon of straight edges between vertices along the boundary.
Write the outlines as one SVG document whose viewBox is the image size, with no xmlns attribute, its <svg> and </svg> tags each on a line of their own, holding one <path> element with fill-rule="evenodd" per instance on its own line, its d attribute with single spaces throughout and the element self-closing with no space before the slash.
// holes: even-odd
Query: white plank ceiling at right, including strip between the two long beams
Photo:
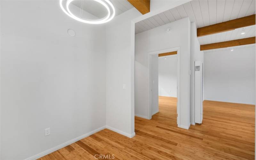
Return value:
<svg viewBox="0 0 256 160">
<path fill-rule="evenodd" d="M 185 17 L 189 17 L 191 22 L 196 23 L 197 28 L 201 28 L 252 14 L 255 14 L 255 0 L 192 0 L 143 20 L 139 25 L 135 25 L 135 28 L 138 27 L 135 33 L 137 34 Z M 238 28 L 198 37 L 198 41 L 200 44 L 211 44 L 255 36 L 255 25 L 245 27 L 244 35 L 241 35 L 242 29 Z"/>
</svg>

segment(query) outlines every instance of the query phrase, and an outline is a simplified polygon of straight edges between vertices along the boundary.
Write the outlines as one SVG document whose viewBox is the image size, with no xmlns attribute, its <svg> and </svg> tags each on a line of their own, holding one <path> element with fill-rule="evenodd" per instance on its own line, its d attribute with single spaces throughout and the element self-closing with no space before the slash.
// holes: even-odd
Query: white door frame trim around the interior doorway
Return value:
<svg viewBox="0 0 256 160">
<path fill-rule="evenodd" d="M 151 113 L 151 97 L 152 97 L 152 92 L 151 92 L 151 59 L 152 55 L 154 54 L 160 54 L 160 53 L 166 53 L 166 52 L 173 52 L 177 51 L 177 124 L 178 126 L 180 125 L 180 47 L 174 47 L 174 48 L 168 48 L 164 50 L 158 50 L 158 51 L 153 51 L 153 52 L 148 52 L 148 66 L 149 66 L 149 106 L 148 106 L 148 119 L 152 118 L 152 113 Z"/>
</svg>

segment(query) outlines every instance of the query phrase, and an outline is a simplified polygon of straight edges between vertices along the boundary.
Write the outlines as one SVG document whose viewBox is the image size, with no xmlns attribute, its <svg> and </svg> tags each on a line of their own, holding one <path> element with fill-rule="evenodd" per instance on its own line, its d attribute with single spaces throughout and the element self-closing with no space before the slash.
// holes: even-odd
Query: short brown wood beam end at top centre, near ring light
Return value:
<svg viewBox="0 0 256 160">
<path fill-rule="evenodd" d="M 150 0 L 127 0 L 132 4 L 140 13 L 146 14 L 150 12 Z"/>
</svg>

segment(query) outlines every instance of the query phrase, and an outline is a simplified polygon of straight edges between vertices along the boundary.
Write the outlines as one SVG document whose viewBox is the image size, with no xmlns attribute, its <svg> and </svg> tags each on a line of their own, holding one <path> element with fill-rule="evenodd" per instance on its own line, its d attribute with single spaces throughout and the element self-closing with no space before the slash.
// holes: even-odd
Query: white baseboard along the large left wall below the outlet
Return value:
<svg viewBox="0 0 256 160">
<path fill-rule="evenodd" d="M 60 149 L 60 148 L 66 147 L 66 146 L 68 146 L 68 145 L 70 145 L 70 144 L 72 144 L 72 143 L 74 143 L 74 142 L 76 142 L 76 141 L 78 141 L 78 140 L 81 140 L 81 139 L 83 139 L 83 138 L 85 138 L 85 137 L 88 137 L 88 136 L 90 136 L 90 135 L 92 135 L 92 134 L 94 134 L 94 133 L 96 133 L 96 132 L 99 132 L 99 131 L 101 131 L 101 130 L 103 130 L 103 129 L 105 129 L 105 128 L 106 128 L 106 126 L 100 127 L 100 128 L 98 128 L 98 129 L 96 129 L 96 130 L 93 130 L 93 131 L 88 132 L 88 133 L 86 133 L 86 134 L 84 134 L 84 135 L 81 135 L 81 136 L 79 136 L 79 137 L 77 137 L 77 138 L 75 138 L 75 139 L 73 139 L 73 140 L 69 140 L 69 141 L 67 141 L 67 142 L 65 142 L 65 143 L 63 143 L 63 144 L 60 144 L 60 145 L 58 145 L 58 146 L 56 146 L 56 147 L 53 147 L 53 148 L 48 149 L 48 150 L 46 150 L 46 151 L 44 151 L 44 152 L 41 152 L 41 153 L 39 153 L 39 154 L 37 154 L 37 155 L 35 155 L 35 156 L 29 157 L 29 158 L 27 158 L 26 160 L 36 160 L 36 159 L 38 159 L 38 158 L 41 158 L 41 157 L 43 157 L 43 156 L 45 156 L 45 155 L 48 155 L 48 154 L 50 154 L 50 153 L 52 153 L 52 152 L 54 152 L 54 151 L 56 151 L 56 150 L 58 150 L 58 149 Z"/>
</svg>

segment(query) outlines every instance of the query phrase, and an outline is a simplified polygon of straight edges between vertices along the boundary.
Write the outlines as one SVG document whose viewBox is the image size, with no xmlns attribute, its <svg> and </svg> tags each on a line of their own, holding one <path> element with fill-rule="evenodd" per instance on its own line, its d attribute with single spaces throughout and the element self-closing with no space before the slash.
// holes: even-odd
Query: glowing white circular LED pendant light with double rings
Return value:
<svg viewBox="0 0 256 160">
<path fill-rule="evenodd" d="M 75 16 L 69 9 L 69 4 L 74 1 L 74 0 L 67 0 L 67 3 L 66 3 L 66 9 L 64 9 L 63 7 L 63 0 L 60 0 L 60 8 L 62 9 L 62 11 L 64 13 L 66 13 L 69 17 L 75 19 L 75 20 L 78 20 L 80 22 L 83 22 L 83 23 L 89 23 L 89 24 L 102 24 L 102 23 L 106 23 L 110 20 L 112 20 L 115 16 L 115 8 L 114 8 L 114 5 L 109 1 L 109 0 L 94 0 L 96 2 L 98 2 L 99 4 L 103 5 L 107 11 L 108 11 L 108 14 L 104 17 L 104 18 L 101 18 L 101 19 L 97 19 L 97 20 L 91 20 L 91 19 L 81 19 L 77 16 Z M 110 8 L 109 8 L 110 6 Z M 110 9 L 112 10 L 112 14 L 110 12 Z M 111 16 L 110 16 L 111 14 Z"/>
</svg>

